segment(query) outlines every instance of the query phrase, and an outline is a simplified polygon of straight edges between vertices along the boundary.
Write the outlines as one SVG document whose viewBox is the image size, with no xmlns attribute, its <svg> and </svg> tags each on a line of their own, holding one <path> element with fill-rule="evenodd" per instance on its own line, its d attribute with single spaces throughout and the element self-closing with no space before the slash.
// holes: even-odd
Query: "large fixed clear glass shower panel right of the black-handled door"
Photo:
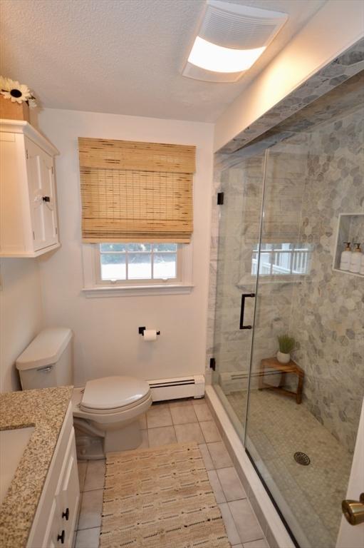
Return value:
<svg viewBox="0 0 364 548">
<path fill-rule="evenodd" d="M 364 280 L 333 270 L 339 214 L 361 223 L 351 241 L 363 236 L 360 143 L 363 111 L 351 111 L 271 147 L 260 252 L 251 250 L 244 445 L 301 548 L 336 546 L 363 401 Z M 286 365 L 280 335 L 295 340 Z"/>
</svg>

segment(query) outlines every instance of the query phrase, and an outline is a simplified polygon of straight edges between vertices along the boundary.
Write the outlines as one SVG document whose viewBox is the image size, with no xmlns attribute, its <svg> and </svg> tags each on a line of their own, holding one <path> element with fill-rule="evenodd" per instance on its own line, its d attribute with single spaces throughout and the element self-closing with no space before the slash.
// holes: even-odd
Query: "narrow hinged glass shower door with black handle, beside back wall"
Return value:
<svg viewBox="0 0 364 548">
<path fill-rule="evenodd" d="M 224 203 L 219 206 L 213 383 L 241 440 L 248 393 L 255 305 L 250 295 L 254 295 L 256 287 L 264 161 L 264 154 L 244 158 L 225 170 L 221 178 Z M 252 248 L 256 249 L 253 263 Z"/>
</svg>

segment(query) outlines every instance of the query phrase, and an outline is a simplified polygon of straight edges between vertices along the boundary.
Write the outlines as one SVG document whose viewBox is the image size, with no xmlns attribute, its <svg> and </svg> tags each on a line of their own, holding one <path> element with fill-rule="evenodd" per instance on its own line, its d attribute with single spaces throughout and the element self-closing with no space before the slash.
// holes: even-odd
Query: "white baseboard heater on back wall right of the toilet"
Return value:
<svg viewBox="0 0 364 548">
<path fill-rule="evenodd" d="M 153 402 L 177 400 L 182 397 L 204 397 L 204 375 L 174 379 L 148 380 Z"/>
</svg>

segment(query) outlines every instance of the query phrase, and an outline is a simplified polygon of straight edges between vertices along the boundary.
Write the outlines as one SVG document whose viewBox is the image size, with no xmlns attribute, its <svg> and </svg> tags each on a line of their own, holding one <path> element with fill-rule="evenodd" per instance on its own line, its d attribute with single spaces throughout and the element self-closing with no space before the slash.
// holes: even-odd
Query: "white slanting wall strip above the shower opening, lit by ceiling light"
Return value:
<svg viewBox="0 0 364 548">
<path fill-rule="evenodd" d="M 228 143 L 364 35 L 362 0 L 328 0 L 217 120 L 214 150 Z"/>
</svg>

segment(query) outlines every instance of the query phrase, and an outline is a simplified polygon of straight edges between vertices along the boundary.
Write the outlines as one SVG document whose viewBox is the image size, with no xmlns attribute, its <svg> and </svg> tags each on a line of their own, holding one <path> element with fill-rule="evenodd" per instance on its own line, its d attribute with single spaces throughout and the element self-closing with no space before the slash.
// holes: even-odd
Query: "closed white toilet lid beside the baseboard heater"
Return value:
<svg viewBox="0 0 364 548">
<path fill-rule="evenodd" d="M 88 409 L 115 409 L 144 398 L 150 387 L 145 380 L 135 377 L 103 377 L 86 382 L 82 407 Z"/>
</svg>

